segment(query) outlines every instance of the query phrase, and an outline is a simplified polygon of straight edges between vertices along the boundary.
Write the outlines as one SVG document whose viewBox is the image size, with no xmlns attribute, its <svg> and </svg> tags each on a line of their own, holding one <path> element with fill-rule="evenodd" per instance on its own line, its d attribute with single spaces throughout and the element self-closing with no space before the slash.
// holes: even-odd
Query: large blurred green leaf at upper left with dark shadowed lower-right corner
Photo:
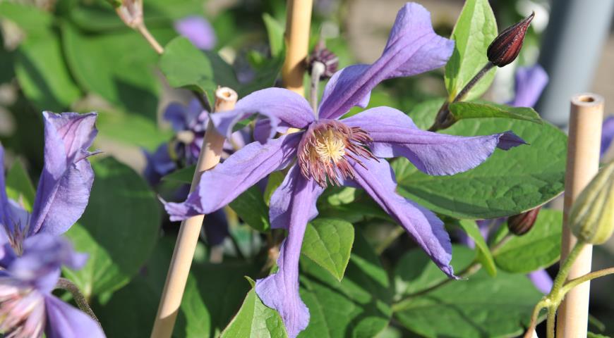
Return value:
<svg viewBox="0 0 614 338">
<path fill-rule="evenodd" d="M 168 28 L 151 31 L 160 42 L 174 35 Z M 157 120 L 157 54 L 143 37 L 129 29 L 88 35 L 68 22 L 61 32 L 68 67 L 81 87 L 126 113 Z"/>
</svg>

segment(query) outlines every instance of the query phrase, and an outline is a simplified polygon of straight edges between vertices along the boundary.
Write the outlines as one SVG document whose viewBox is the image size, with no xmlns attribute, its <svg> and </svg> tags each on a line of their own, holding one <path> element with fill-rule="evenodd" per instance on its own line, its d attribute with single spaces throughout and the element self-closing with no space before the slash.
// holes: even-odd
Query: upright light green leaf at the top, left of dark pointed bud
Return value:
<svg viewBox="0 0 614 338">
<path fill-rule="evenodd" d="M 445 87 L 450 101 L 488 63 L 486 49 L 497 37 L 497 22 L 488 0 L 467 0 L 452 31 L 455 41 L 454 52 L 445 65 Z M 476 99 L 490 86 L 495 78 L 490 70 L 465 96 L 465 100 Z"/>
</svg>

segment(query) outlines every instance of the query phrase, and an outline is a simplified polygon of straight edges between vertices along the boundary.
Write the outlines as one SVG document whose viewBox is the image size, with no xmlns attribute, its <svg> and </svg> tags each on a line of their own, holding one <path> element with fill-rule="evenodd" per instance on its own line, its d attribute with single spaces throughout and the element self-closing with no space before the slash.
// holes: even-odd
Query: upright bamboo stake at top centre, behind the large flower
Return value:
<svg viewBox="0 0 614 338">
<path fill-rule="evenodd" d="M 282 67 L 284 87 L 304 96 L 303 74 L 309 48 L 309 27 L 313 0 L 288 0 L 286 19 L 286 60 Z"/>
</svg>

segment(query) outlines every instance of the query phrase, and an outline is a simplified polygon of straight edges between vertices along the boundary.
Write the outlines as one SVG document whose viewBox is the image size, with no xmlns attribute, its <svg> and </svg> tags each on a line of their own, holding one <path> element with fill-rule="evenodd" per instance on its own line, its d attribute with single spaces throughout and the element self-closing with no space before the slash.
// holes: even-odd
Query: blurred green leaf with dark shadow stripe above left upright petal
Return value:
<svg viewBox="0 0 614 338">
<path fill-rule="evenodd" d="M 25 96 L 41 110 L 65 111 L 81 96 L 68 73 L 60 37 L 51 30 L 20 44 L 15 73 Z"/>
</svg>

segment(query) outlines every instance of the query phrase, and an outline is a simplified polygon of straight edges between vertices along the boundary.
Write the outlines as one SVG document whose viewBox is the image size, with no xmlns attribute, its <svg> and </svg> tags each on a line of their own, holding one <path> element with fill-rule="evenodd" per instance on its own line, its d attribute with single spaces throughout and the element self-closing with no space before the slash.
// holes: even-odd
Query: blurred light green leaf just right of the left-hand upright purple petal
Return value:
<svg viewBox="0 0 614 338">
<path fill-rule="evenodd" d="M 99 111 L 96 120 L 98 138 L 108 138 L 116 142 L 139 146 L 148 151 L 168 142 L 173 136 L 172 130 L 161 130 L 150 118 L 119 111 Z"/>
</svg>

